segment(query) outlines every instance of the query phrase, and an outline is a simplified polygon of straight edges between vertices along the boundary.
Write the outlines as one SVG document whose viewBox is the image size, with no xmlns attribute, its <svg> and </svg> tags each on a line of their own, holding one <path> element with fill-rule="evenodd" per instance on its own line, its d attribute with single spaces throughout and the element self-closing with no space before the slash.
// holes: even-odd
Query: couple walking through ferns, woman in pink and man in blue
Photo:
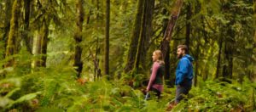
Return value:
<svg viewBox="0 0 256 112">
<path fill-rule="evenodd" d="M 176 69 L 176 98 L 175 104 L 178 104 L 184 97 L 189 94 L 192 87 L 193 79 L 193 66 L 194 60 L 188 53 L 186 45 L 177 46 L 177 58 L 179 62 Z M 155 50 L 153 55 L 153 66 L 151 68 L 151 76 L 148 81 L 147 92 L 154 91 L 158 99 L 163 91 L 163 76 L 165 71 L 165 62 L 163 61 L 162 53 L 160 50 Z"/>
</svg>

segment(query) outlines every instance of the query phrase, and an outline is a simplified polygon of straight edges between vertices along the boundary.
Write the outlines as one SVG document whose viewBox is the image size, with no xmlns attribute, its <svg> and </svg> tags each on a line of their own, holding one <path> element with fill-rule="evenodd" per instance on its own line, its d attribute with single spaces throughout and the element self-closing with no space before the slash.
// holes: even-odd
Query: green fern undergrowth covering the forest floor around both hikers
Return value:
<svg viewBox="0 0 256 112">
<path fill-rule="evenodd" d="M 4 71 L 6 77 L 0 81 L 2 111 L 166 111 L 175 98 L 175 88 L 165 86 L 160 101 L 154 95 L 145 101 L 142 87 L 128 86 L 122 78 L 79 83 L 73 68 L 67 66 L 22 73 L 19 67 Z M 256 83 L 247 79 L 242 84 L 199 80 L 188 101 L 172 111 L 253 111 L 255 88 Z"/>
</svg>

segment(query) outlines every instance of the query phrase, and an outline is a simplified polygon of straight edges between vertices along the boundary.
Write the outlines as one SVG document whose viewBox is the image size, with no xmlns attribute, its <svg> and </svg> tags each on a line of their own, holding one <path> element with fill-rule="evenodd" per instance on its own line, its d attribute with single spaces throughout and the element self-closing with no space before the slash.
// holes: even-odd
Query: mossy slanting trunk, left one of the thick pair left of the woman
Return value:
<svg viewBox="0 0 256 112">
<path fill-rule="evenodd" d="M 137 15 L 136 20 L 133 25 L 133 31 L 131 35 L 131 42 L 128 50 L 128 57 L 127 62 L 125 65 L 125 73 L 131 71 L 134 67 L 136 54 L 137 54 L 137 45 L 139 42 L 139 36 L 141 33 L 141 25 L 142 25 L 142 18 L 143 18 L 143 4 L 145 0 L 138 0 L 137 3 Z"/>
</svg>

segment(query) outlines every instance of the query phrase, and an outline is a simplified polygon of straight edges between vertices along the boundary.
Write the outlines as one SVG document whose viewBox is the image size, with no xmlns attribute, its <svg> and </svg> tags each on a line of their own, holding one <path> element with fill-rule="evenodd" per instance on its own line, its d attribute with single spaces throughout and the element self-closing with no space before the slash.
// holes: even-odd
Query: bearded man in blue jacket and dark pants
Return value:
<svg viewBox="0 0 256 112">
<path fill-rule="evenodd" d="M 180 59 L 176 69 L 176 99 L 175 104 L 178 104 L 184 96 L 189 94 L 189 90 L 192 87 L 193 79 L 193 66 L 192 61 L 194 59 L 187 54 L 188 48 L 186 45 L 177 46 L 177 58 Z"/>
</svg>

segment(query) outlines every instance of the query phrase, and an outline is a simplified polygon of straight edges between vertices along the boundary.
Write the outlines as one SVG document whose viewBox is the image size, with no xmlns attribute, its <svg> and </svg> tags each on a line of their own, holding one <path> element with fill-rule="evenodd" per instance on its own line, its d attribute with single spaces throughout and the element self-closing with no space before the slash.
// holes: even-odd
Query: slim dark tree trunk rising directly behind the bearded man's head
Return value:
<svg viewBox="0 0 256 112">
<path fill-rule="evenodd" d="M 190 38 L 190 28 L 191 28 L 191 23 L 190 23 L 190 19 L 191 19 L 191 15 L 192 15 L 192 10 L 191 10 L 191 5 L 190 3 L 187 5 L 187 16 L 186 16 L 186 45 L 188 47 L 188 53 L 189 53 L 189 38 Z"/>
</svg>

